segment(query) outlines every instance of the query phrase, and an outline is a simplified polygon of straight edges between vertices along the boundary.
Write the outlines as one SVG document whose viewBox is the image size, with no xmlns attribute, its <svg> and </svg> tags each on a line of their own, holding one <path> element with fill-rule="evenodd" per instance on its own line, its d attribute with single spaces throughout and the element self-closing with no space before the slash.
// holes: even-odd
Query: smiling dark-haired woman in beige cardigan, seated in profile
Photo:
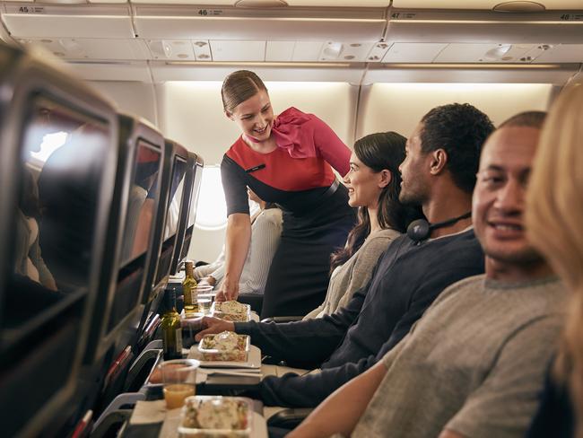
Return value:
<svg viewBox="0 0 583 438">
<path fill-rule="evenodd" d="M 304 318 L 321 318 L 350 302 L 365 286 L 388 244 L 422 217 L 416 206 L 399 202 L 406 138 L 396 132 L 370 134 L 357 140 L 344 177 L 348 205 L 359 207 L 359 221 L 348 234 L 343 249 L 332 256 L 326 300 Z"/>
</svg>

